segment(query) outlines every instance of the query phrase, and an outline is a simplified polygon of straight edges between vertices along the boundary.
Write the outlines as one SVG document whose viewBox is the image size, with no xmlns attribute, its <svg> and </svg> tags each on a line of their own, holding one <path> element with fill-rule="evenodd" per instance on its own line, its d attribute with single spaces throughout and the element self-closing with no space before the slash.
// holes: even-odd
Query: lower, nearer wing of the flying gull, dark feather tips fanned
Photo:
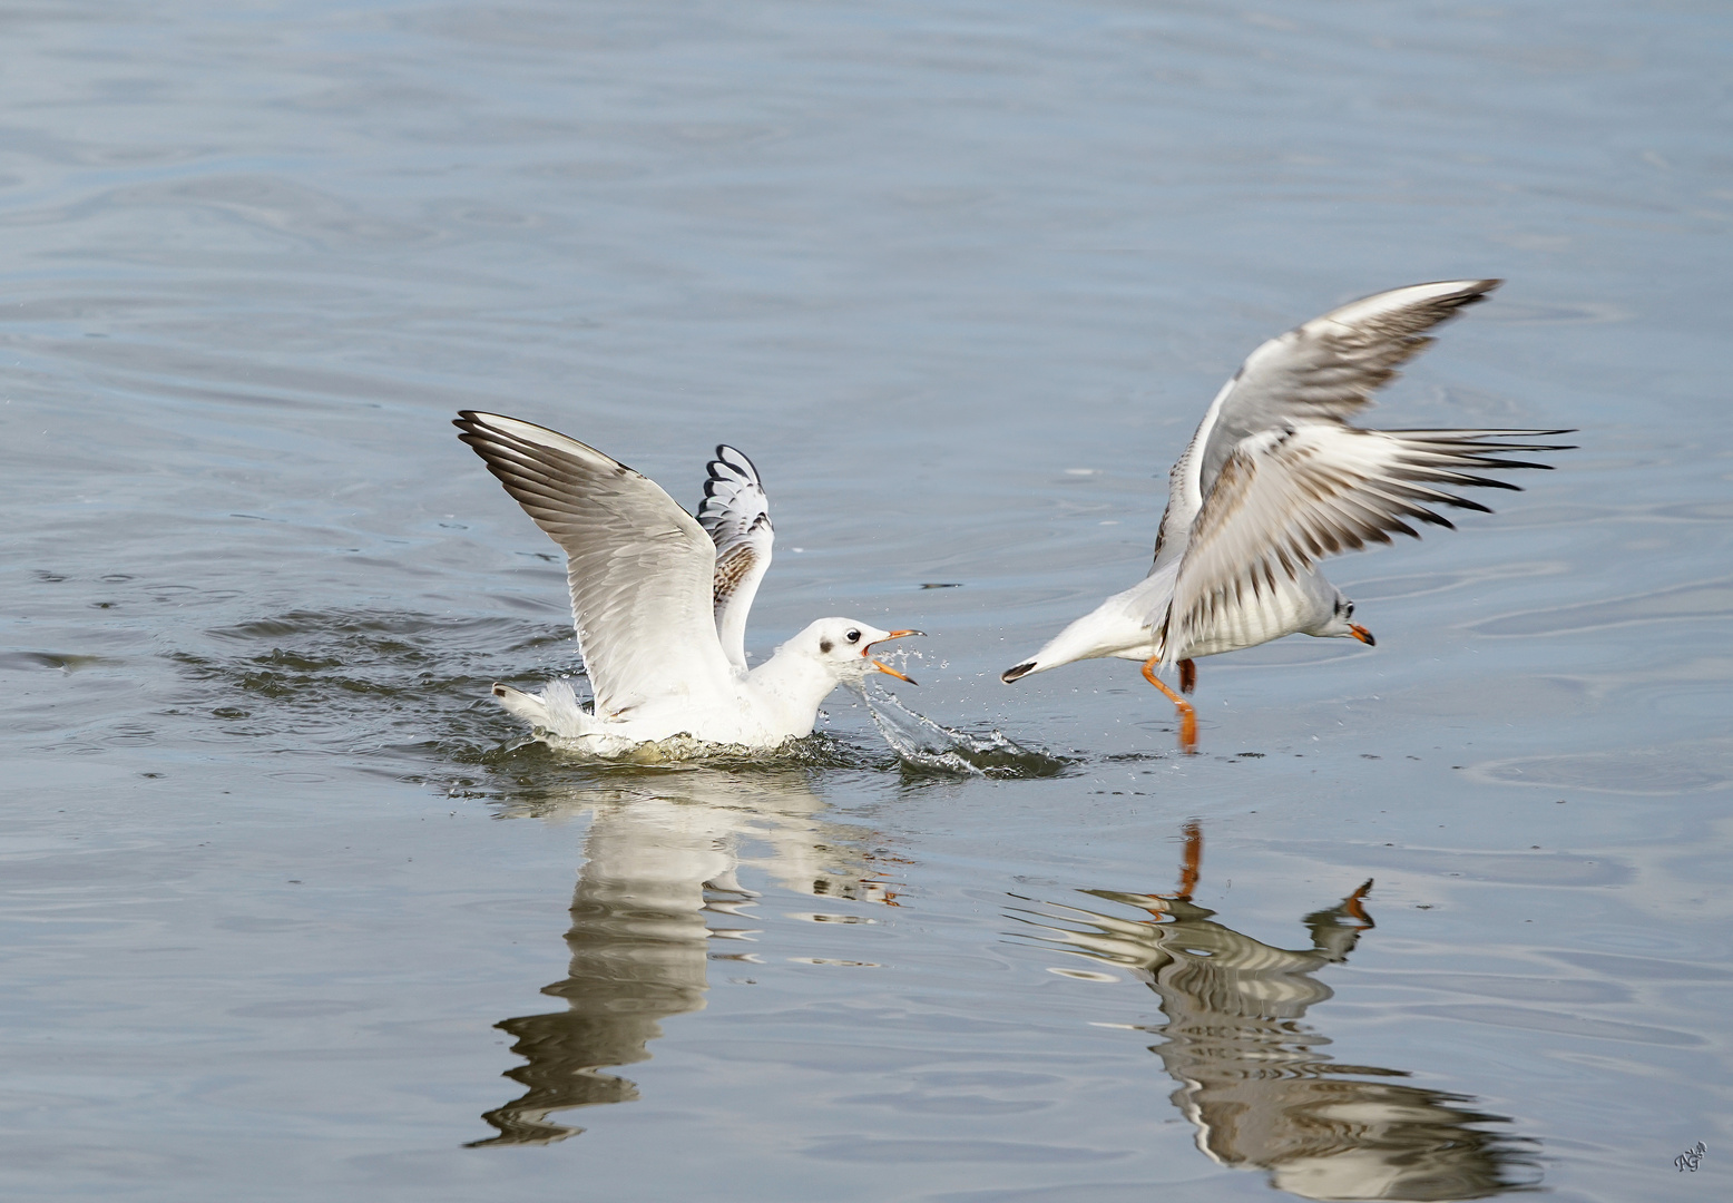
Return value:
<svg viewBox="0 0 1733 1203">
<path fill-rule="evenodd" d="M 1178 563 L 1163 647 L 1210 629 L 1258 624 L 1274 595 L 1331 555 L 1419 537 L 1409 520 L 1449 527 L 1431 506 L 1487 511 L 1444 487 L 1516 489 L 1478 473 L 1548 465 L 1508 451 L 1565 451 L 1511 442 L 1565 430 L 1360 430 L 1322 418 L 1243 439 L 1217 473 Z M 1159 621 L 1159 617 L 1158 617 Z M 1265 636 L 1269 638 L 1269 636 Z"/>
</svg>

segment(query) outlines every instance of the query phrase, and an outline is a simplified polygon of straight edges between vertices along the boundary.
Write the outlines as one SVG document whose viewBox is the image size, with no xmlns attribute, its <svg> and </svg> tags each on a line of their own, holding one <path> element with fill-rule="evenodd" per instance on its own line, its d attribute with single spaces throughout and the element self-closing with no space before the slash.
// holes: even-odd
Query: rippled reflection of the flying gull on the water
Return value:
<svg viewBox="0 0 1733 1203">
<path fill-rule="evenodd" d="M 1310 948 L 1274 948 L 1213 920 L 1191 900 L 1203 834 L 1185 827 L 1173 894 L 1081 891 L 1149 912 L 1123 919 L 1080 907 L 1022 910 L 1036 940 L 1146 981 L 1166 1023 L 1151 1052 L 1180 1089 L 1173 1102 L 1198 1148 L 1229 1167 L 1269 1170 L 1270 1184 L 1308 1200 L 1478 1200 L 1532 1187 L 1532 1141 L 1483 1125 L 1475 1099 L 1392 1082 L 1405 1070 L 1336 1064 L 1329 1038 L 1300 1023 L 1331 997 L 1314 978 L 1347 960 L 1373 927 L 1366 882 L 1340 905 L 1307 915 Z M 1068 926 L 1059 926 L 1068 924 Z M 1367 1080 L 1371 1078 L 1371 1080 Z"/>
</svg>

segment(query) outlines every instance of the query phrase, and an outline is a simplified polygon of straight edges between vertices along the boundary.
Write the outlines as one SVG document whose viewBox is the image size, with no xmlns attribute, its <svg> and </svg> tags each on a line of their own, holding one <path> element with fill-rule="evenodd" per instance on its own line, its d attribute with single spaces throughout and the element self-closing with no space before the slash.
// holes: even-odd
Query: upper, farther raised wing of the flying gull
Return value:
<svg viewBox="0 0 1733 1203">
<path fill-rule="evenodd" d="M 1454 279 L 1376 293 L 1269 340 L 1217 393 L 1168 478 L 1156 565 L 1185 553 L 1192 522 L 1243 439 L 1303 419 L 1343 419 L 1373 404 L 1397 367 L 1431 345 L 1428 329 L 1503 281 Z"/>
</svg>

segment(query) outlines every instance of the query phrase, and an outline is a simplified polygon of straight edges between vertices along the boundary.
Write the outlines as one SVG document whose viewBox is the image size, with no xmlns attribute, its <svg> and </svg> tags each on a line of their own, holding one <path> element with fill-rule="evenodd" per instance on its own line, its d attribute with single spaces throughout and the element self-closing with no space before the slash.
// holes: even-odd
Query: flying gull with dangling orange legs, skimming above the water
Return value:
<svg viewBox="0 0 1733 1203">
<path fill-rule="evenodd" d="M 1118 657 L 1178 709 L 1180 747 L 1198 751 L 1191 702 L 1156 676 L 1194 660 L 1303 631 L 1359 640 L 1353 602 L 1317 570 L 1326 556 L 1419 537 L 1409 520 L 1449 527 L 1431 506 L 1490 513 L 1444 487 L 1516 489 L 1482 471 L 1548 468 L 1503 452 L 1568 451 L 1513 442 L 1568 430 L 1364 430 L 1348 416 L 1397 366 L 1433 340 L 1428 329 L 1503 281 L 1411 284 L 1334 309 L 1258 347 L 1211 402 L 1168 477 L 1156 560 L 1139 584 L 1102 602 L 1047 647 L 1005 669 L 1010 683 L 1047 669 Z M 1438 487 L 1444 485 L 1444 487 Z"/>
</svg>

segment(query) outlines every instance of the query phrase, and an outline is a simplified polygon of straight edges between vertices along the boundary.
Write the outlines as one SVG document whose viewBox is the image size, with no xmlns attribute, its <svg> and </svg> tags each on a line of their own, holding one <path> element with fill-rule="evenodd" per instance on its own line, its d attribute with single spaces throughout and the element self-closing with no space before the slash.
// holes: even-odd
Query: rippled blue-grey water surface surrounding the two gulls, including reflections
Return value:
<svg viewBox="0 0 1733 1203">
<path fill-rule="evenodd" d="M 1726 1196 L 1730 33 L 0 12 L 5 1193 Z M 1258 340 L 1487 274 L 1378 418 L 1580 451 L 1338 562 L 1376 648 L 1204 660 L 1185 759 L 1135 666 L 998 683 Z M 918 626 L 920 688 L 527 742 L 563 572 L 459 406 L 686 504 L 747 449 L 749 650 Z M 988 771 L 886 742 L 944 728 Z"/>
</svg>

